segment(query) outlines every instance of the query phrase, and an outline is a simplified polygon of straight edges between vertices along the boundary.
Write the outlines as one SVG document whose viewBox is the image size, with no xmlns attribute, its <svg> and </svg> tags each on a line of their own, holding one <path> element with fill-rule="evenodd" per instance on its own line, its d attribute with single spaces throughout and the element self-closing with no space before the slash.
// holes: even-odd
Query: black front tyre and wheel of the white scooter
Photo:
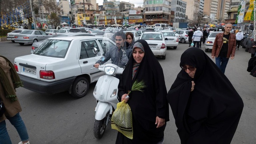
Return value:
<svg viewBox="0 0 256 144">
<path fill-rule="evenodd" d="M 93 133 L 94 133 L 95 138 L 100 139 L 103 136 L 106 126 L 107 126 L 106 120 L 107 120 L 107 117 L 105 117 L 102 120 L 95 120 L 94 128 L 93 128 Z"/>
</svg>

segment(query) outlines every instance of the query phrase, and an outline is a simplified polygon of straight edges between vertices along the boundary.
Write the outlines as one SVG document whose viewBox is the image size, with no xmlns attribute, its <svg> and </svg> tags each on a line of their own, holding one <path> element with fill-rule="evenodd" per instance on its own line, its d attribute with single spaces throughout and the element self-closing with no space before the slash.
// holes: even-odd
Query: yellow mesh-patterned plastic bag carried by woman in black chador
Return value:
<svg viewBox="0 0 256 144">
<path fill-rule="evenodd" d="M 129 139 L 133 139 L 132 111 L 124 101 L 117 103 L 117 108 L 111 118 L 111 128 L 118 130 Z"/>
</svg>

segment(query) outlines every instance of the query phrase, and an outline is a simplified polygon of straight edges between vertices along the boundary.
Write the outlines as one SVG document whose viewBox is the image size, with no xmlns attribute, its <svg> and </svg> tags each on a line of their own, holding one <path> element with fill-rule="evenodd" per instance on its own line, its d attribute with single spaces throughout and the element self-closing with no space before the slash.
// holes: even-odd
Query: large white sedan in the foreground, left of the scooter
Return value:
<svg viewBox="0 0 256 144">
<path fill-rule="evenodd" d="M 91 69 L 95 64 L 93 49 L 102 55 L 112 46 L 115 43 L 103 37 L 53 37 L 33 54 L 16 57 L 14 67 L 26 89 L 43 94 L 68 91 L 71 96 L 81 98 L 89 84 L 104 75 Z"/>
</svg>

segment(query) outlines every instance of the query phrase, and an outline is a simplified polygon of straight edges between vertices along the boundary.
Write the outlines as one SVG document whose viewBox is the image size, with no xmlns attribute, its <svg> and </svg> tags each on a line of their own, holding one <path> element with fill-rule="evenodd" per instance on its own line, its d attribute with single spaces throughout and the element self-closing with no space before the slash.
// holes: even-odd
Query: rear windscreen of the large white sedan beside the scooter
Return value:
<svg viewBox="0 0 256 144">
<path fill-rule="evenodd" d="M 64 58 L 71 41 L 47 39 L 33 54 Z"/>
</svg>

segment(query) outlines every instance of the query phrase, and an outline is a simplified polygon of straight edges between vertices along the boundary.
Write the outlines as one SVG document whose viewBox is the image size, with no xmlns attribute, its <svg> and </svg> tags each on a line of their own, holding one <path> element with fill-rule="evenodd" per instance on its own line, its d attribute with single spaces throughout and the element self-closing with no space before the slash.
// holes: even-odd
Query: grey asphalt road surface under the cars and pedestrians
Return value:
<svg viewBox="0 0 256 144">
<path fill-rule="evenodd" d="M 179 44 L 176 50 L 169 48 L 166 59 L 158 59 L 165 75 L 167 91 L 180 71 L 180 56 L 188 48 L 188 43 Z M 204 46 L 202 46 L 204 50 Z M 0 42 L 0 55 L 14 62 L 14 58 L 30 54 L 31 44 L 20 46 L 10 41 Z M 210 52 L 207 52 L 210 56 Z M 232 144 L 255 144 L 256 142 L 256 78 L 246 71 L 250 59 L 248 52 L 240 48 L 235 58 L 229 60 L 226 76 L 243 99 L 244 110 L 232 140 Z M 215 61 L 215 60 L 214 60 Z M 94 108 L 96 100 L 90 85 L 88 94 L 72 98 L 67 92 L 43 95 L 25 88 L 18 88 L 17 95 L 23 111 L 22 116 L 31 144 L 113 144 L 117 131 L 107 126 L 102 139 L 94 138 Z M 7 120 L 7 129 L 13 144 L 20 141 L 15 128 Z M 164 144 L 180 144 L 175 121 L 170 109 L 170 121 L 165 129 Z"/>
</svg>

